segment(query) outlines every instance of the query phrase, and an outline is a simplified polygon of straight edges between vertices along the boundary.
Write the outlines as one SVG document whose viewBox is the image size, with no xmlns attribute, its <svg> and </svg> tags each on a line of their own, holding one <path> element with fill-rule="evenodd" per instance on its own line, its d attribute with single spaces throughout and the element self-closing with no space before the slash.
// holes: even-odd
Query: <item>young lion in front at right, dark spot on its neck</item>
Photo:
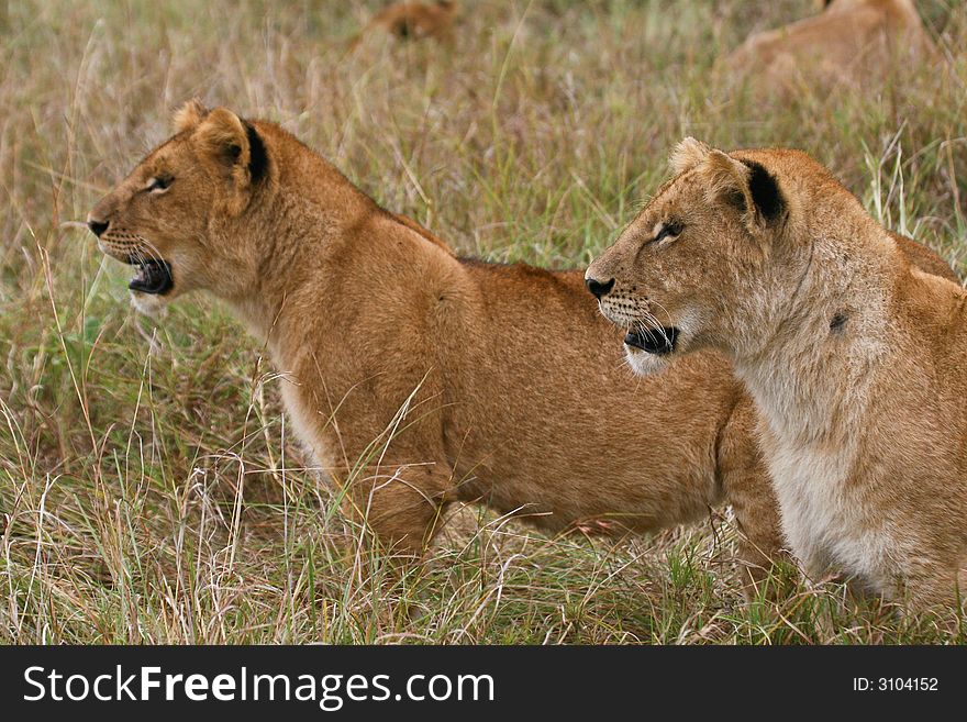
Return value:
<svg viewBox="0 0 967 722">
<path fill-rule="evenodd" d="M 912 267 L 803 153 L 688 138 L 673 167 L 587 273 L 630 329 L 632 366 L 725 353 L 807 569 L 838 567 L 915 607 L 953 601 L 967 562 L 967 292 Z"/>
</svg>

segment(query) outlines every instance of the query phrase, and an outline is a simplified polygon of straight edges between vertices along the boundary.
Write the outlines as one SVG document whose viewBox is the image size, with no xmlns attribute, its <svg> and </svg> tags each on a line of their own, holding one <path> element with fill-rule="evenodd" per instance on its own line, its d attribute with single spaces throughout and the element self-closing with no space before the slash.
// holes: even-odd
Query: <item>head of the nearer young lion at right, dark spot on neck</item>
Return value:
<svg viewBox="0 0 967 722">
<path fill-rule="evenodd" d="M 756 277 L 790 218 L 787 193 L 757 155 L 682 141 L 671 158 L 676 177 L 588 268 L 601 312 L 627 330 L 636 371 L 735 332 L 725 323 L 744 302 L 735 281 Z"/>
</svg>

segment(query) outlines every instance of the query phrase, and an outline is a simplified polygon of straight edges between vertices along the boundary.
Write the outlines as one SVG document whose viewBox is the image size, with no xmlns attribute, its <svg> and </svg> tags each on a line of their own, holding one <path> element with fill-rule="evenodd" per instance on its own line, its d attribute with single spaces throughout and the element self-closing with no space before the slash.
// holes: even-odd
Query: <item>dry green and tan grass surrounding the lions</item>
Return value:
<svg viewBox="0 0 967 722">
<path fill-rule="evenodd" d="M 345 57 L 378 4 L 0 2 L 0 640 L 964 642 L 963 620 L 900 621 L 836 585 L 745 603 L 727 511 L 611 543 L 462 509 L 397 579 L 341 542 L 258 345 L 201 297 L 137 316 L 76 224 L 198 95 L 281 122 L 464 254 L 586 264 L 693 134 L 812 153 L 963 270 L 960 3 L 926 3 L 949 71 L 782 104 L 708 78 L 809 0 L 466 2 L 453 52 Z"/>
</svg>

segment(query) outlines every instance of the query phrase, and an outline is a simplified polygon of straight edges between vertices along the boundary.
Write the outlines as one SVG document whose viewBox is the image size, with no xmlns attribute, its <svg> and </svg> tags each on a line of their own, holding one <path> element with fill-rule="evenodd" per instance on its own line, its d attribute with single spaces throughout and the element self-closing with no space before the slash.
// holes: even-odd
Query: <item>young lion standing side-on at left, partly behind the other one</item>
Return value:
<svg viewBox="0 0 967 722">
<path fill-rule="evenodd" d="M 253 156 L 227 112 L 178 114 L 92 211 L 100 245 L 165 258 L 174 287 L 151 299 L 207 290 L 267 344 L 299 436 L 384 542 L 420 554 L 454 501 L 611 534 L 731 501 L 762 574 L 778 514 L 721 356 L 636 380 L 580 273 L 460 260 L 270 123 L 251 124 L 268 157 L 253 182 L 211 144 Z M 169 188 L 146 192 L 159 175 Z"/>
</svg>

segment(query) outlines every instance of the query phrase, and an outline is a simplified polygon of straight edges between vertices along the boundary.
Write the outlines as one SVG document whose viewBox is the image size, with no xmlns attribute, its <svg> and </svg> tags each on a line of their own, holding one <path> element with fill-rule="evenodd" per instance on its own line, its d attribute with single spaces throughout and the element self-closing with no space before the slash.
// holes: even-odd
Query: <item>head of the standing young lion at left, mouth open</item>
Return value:
<svg viewBox="0 0 967 722">
<path fill-rule="evenodd" d="M 129 288 L 143 308 L 238 277 L 244 249 L 220 231 L 243 215 L 268 173 L 258 133 L 232 111 L 191 101 L 174 125 L 88 216 L 101 251 L 136 267 Z"/>
</svg>

